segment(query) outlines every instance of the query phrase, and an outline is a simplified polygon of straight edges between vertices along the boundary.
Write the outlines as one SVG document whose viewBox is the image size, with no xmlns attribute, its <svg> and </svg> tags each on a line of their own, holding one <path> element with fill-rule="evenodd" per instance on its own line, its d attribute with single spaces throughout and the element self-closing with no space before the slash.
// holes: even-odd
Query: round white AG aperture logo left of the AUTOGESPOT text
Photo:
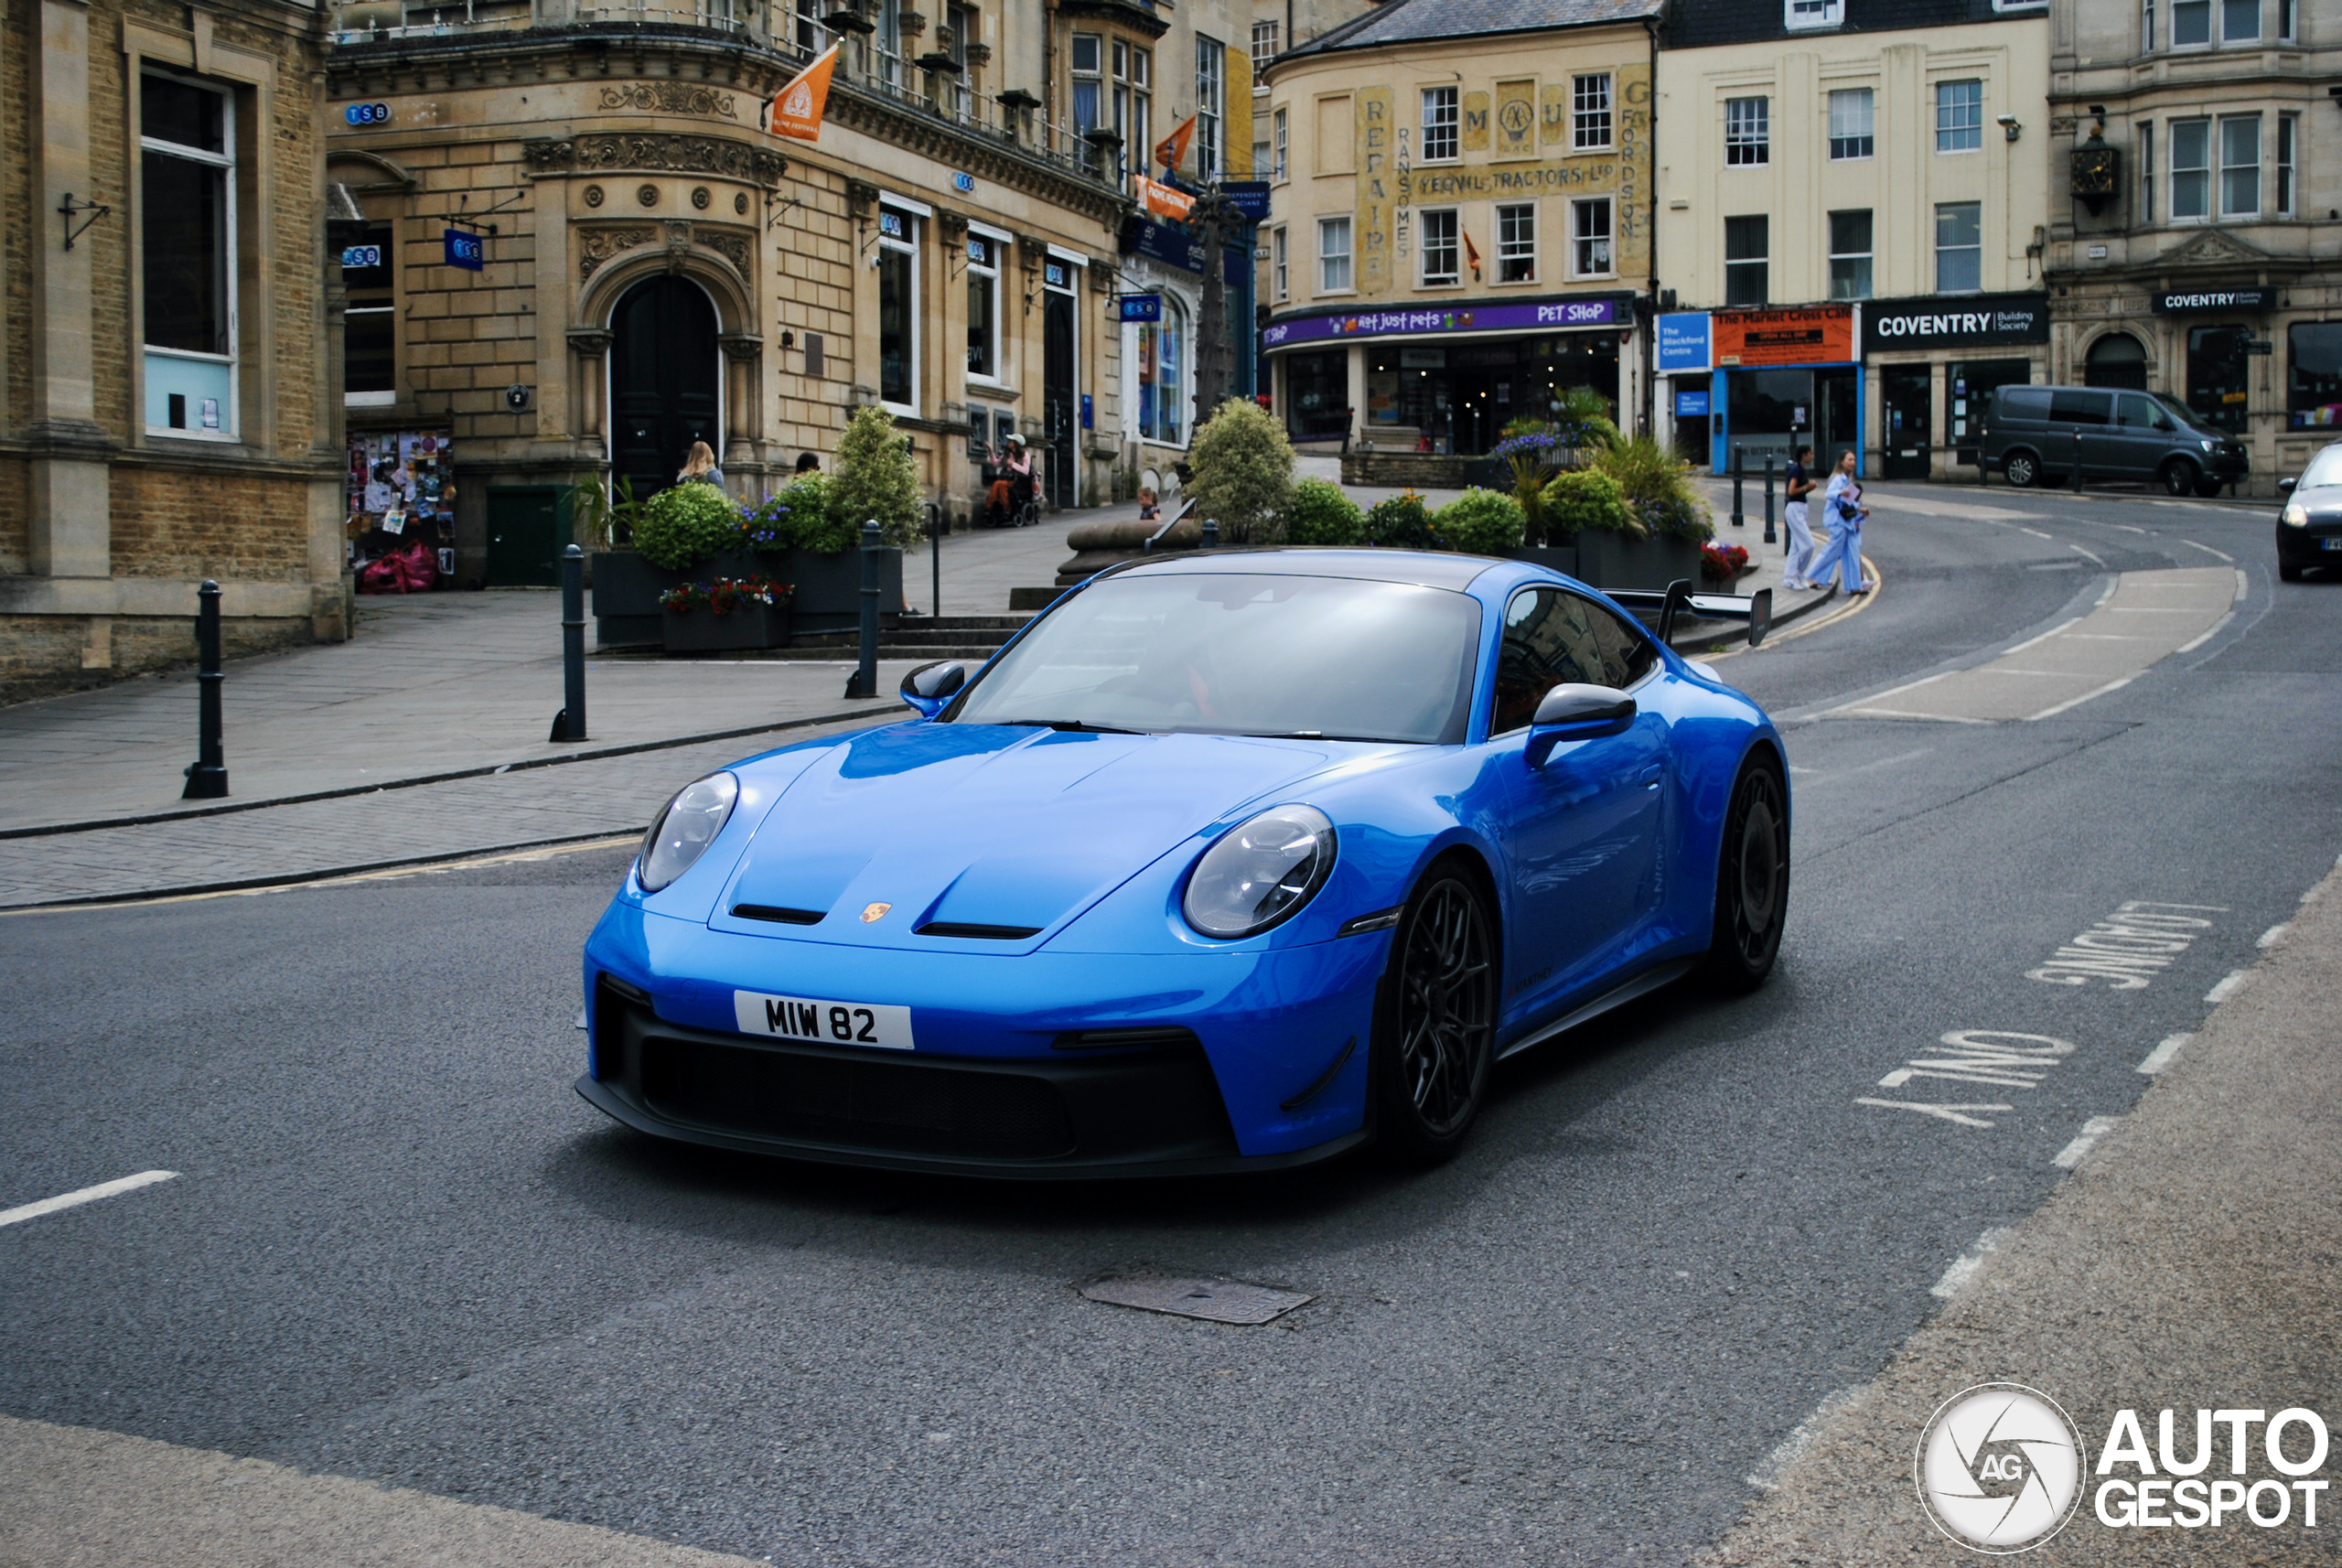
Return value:
<svg viewBox="0 0 2342 1568">
<path fill-rule="evenodd" d="M 1918 1439 L 1918 1500 L 1970 1552 L 2031 1552 L 2082 1500 L 2082 1437 L 2042 1392 L 1981 1383 L 1934 1411 Z"/>
</svg>

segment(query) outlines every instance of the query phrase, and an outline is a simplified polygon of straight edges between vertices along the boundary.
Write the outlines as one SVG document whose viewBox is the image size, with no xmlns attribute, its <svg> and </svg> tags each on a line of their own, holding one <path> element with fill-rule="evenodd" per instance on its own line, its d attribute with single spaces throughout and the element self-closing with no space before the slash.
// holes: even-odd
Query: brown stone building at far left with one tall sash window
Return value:
<svg viewBox="0 0 2342 1568">
<path fill-rule="evenodd" d="M 347 634 L 304 5 L 0 28 L 0 695 Z M 192 723 L 192 718 L 190 718 Z"/>
</svg>

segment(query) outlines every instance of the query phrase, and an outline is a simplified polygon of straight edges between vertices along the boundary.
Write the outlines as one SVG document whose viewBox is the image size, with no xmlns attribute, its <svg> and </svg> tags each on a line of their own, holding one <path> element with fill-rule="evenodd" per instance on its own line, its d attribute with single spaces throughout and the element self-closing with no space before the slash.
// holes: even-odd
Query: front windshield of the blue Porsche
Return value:
<svg viewBox="0 0 2342 1568">
<path fill-rule="evenodd" d="M 1269 573 L 1119 576 L 1026 632 L 958 723 L 1454 744 L 1480 604 Z"/>
</svg>

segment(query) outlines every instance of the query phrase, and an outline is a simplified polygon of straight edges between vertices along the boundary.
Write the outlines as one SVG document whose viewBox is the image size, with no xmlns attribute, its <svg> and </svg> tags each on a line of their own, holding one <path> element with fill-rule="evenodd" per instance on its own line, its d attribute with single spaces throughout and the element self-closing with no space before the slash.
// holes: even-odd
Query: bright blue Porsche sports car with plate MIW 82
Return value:
<svg viewBox="0 0 2342 1568">
<path fill-rule="evenodd" d="M 1773 723 L 1541 566 L 1145 559 L 902 695 L 667 803 L 586 943 L 590 1102 L 902 1170 L 1433 1161 L 1497 1058 L 1780 948 Z"/>
</svg>

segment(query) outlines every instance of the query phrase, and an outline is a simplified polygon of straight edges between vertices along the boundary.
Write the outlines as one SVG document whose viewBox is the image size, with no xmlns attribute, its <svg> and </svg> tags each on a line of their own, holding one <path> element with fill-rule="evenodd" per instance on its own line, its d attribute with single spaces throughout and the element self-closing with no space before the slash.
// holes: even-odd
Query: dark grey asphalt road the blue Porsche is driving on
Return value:
<svg viewBox="0 0 2342 1568">
<path fill-rule="evenodd" d="M 1719 665 L 1789 737 L 1775 981 L 1515 1060 L 1431 1175 L 653 1144 L 569 1091 L 616 852 L 5 920 L 0 1205 L 183 1177 L 0 1229 L 0 1414 L 780 1563 L 1682 1561 L 2342 850 L 2342 573 L 2279 585 L 2272 513 L 1904 494 L 1934 515 L 1874 491 L 1874 604 Z M 1822 716 L 2209 552 L 2234 620 L 2059 718 Z M 2209 924 L 2138 990 L 2028 978 L 2129 901 Z M 1951 1030 L 2073 1051 L 1881 1086 Z M 1316 1299 L 1073 1290 L 1138 1266 Z"/>
</svg>

